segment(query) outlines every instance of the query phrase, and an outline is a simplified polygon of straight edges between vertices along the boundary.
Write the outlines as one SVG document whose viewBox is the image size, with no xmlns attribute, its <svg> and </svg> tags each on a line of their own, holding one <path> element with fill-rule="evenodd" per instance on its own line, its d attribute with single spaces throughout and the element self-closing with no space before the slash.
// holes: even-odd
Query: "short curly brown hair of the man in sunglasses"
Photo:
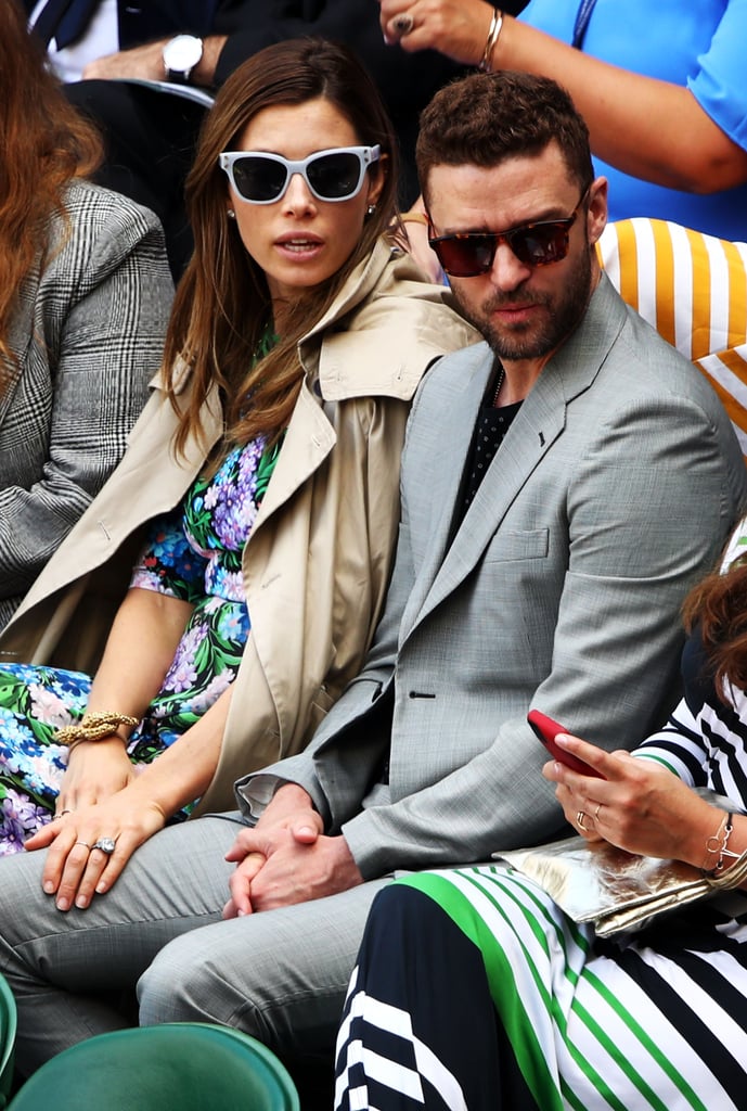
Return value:
<svg viewBox="0 0 747 1111">
<path fill-rule="evenodd" d="M 489 169 L 507 158 L 541 154 L 553 140 L 579 189 L 589 184 L 588 129 L 556 81 L 512 70 L 461 78 L 441 89 L 421 114 L 416 159 L 425 201 L 434 166 Z"/>
</svg>

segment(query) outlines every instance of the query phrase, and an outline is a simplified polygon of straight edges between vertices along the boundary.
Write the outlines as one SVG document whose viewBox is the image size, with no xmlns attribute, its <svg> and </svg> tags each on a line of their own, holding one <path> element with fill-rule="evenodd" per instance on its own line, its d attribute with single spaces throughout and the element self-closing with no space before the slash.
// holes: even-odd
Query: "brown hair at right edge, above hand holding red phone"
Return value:
<svg viewBox="0 0 747 1111">
<path fill-rule="evenodd" d="M 747 552 L 745 554 L 747 557 Z M 725 683 L 747 690 L 747 562 L 744 558 L 733 562 L 723 574 L 716 571 L 698 583 L 686 598 L 683 613 L 688 632 L 699 625 L 718 697 L 725 699 Z"/>
</svg>

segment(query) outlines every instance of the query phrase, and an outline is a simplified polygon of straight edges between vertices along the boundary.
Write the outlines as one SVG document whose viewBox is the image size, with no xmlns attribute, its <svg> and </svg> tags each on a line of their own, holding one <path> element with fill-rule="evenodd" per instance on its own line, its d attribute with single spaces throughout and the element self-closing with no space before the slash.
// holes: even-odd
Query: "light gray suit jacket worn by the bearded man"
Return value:
<svg viewBox="0 0 747 1111">
<path fill-rule="evenodd" d="M 558 831 L 527 710 L 606 748 L 660 722 L 676 697 L 680 602 L 747 493 L 711 389 L 603 278 L 452 539 L 491 369 L 478 344 L 426 378 L 364 671 L 311 747 L 266 770 L 306 788 L 366 879 Z M 259 812 L 272 783 L 241 781 L 244 809 Z"/>
</svg>

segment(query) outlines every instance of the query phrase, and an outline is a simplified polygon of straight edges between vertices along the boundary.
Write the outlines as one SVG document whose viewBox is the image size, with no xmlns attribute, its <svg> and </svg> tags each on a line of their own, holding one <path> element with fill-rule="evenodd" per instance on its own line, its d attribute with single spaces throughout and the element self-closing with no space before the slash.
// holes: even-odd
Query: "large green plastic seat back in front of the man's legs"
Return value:
<svg viewBox="0 0 747 1111">
<path fill-rule="evenodd" d="M 249 1034 L 172 1022 L 99 1034 L 47 1061 L 10 1111 L 300 1111 L 285 1068 Z"/>
</svg>

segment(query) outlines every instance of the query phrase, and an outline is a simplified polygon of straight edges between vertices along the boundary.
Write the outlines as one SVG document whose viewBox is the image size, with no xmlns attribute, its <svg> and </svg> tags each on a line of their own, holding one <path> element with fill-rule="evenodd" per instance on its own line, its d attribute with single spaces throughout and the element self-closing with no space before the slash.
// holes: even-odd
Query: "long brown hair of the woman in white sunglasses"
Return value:
<svg viewBox="0 0 747 1111">
<path fill-rule="evenodd" d="M 287 314 L 292 327 L 255 363 L 260 341 L 272 322 L 270 291 L 263 270 L 226 219 L 228 179 L 218 157 L 235 149 L 246 126 L 264 108 L 317 98 L 337 108 L 362 146 L 378 143 L 382 154 L 388 156 L 384 186 L 345 264 L 329 281 L 299 297 Z M 380 166 L 369 172 L 383 171 Z M 394 132 L 373 81 L 355 57 L 323 39 L 291 39 L 240 66 L 203 126 L 186 182 L 186 207 L 194 254 L 176 291 L 163 361 L 171 403 L 181 417 L 178 453 L 190 436 L 201 434 L 200 409 L 213 384 L 221 392 L 228 442 L 245 443 L 261 432 L 276 436 L 286 427 L 303 376 L 299 339 L 321 319 L 352 269 L 370 254 L 396 216 Z M 183 410 L 179 403 L 181 362 L 193 378 Z"/>
</svg>

